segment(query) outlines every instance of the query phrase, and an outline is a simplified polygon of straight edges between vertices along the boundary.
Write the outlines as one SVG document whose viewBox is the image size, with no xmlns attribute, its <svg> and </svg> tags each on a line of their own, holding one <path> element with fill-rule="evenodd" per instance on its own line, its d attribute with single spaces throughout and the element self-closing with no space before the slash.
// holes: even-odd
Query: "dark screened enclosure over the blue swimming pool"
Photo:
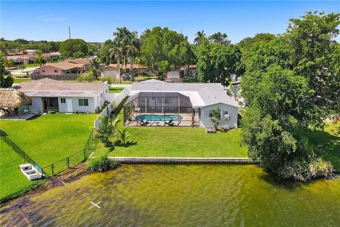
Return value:
<svg viewBox="0 0 340 227">
<path fill-rule="evenodd" d="M 196 111 L 179 92 L 139 92 L 124 104 L 124 126 L 194 126 Z"/>
</svg>

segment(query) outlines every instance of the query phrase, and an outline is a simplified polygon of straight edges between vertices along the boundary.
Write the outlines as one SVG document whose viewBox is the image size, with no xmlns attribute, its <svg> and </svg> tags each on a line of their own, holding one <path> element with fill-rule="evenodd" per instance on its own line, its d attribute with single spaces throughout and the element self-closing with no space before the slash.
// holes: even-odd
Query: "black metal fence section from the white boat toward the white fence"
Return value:
<svg viewBox="0 0 340 227">
<path fill-rule="evenodd" d="M 57 175 L 58 173 L 74 167 L 79 162 L 84 162 L 94 150 L 96 150 L 97 141 L 94 138 L 94 130 L 91 131 L 89 139 L 86 142 L 85 148 L 79 150 L 77 153 L 65 157 L 62 160 L 53 162 L 51 165 L 42 167 L 42 171 L 48 176 Z"/>
</svg>

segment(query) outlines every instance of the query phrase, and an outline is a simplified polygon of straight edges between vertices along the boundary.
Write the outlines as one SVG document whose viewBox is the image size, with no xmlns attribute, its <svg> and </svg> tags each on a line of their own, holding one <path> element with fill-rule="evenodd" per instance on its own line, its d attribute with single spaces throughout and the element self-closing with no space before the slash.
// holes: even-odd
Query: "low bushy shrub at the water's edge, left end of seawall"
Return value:
<svg viewBox="0 0 340 227">
<path fill-rule="evenodd" d="M 104 172 L 107 170 L 113 170 L 119 165 L 120 164 L 117 160 L 108 159 L 107 153 L 104 153 L 98 157 L 89 159 L 86 164 L 86 170 Z"/>
</svg>

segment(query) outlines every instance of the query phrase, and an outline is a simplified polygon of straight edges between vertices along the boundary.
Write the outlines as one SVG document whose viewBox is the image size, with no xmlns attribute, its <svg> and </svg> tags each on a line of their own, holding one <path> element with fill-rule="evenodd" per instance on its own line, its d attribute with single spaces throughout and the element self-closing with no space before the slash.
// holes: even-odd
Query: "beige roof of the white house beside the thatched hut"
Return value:
<svg viewBox="0 0 340 227">
<path fill-rule="evenodd" d="M 105 84 L 103 82 L 60 82 L 54 79 L 38 79 L 19 84 L 19 90 L 28 96 L 97 96 Z"/>
</svg>

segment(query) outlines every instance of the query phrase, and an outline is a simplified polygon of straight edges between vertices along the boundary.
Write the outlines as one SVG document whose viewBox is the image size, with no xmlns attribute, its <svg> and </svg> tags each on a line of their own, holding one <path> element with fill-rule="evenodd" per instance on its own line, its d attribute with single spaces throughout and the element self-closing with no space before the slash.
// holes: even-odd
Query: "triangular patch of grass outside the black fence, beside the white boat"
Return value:
<svg viewBox="0 0 340 227">
<path fill-rule="evenodd" d="M 23 164 L 23 159 L 3 139 L 0 139 L 0 148 L 0 203 L 26 193 L 44 182 L 42 179 L 29 181 L 21 173 L 19 165 Z"/>
</svg>

